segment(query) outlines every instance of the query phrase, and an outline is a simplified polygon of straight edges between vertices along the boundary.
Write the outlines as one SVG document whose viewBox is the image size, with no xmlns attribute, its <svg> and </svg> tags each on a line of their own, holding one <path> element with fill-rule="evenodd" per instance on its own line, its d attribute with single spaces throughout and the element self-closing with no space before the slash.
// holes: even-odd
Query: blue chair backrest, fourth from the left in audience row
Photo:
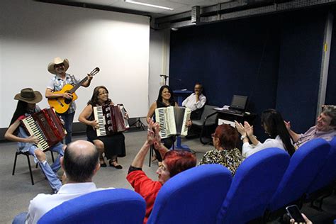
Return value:
<svg viewBox="0 0 336 224">
<path fill-rule="evenodd" d="M 269 203 L 269 211 L 276 211 L 306 193 L 320 171 L 330 150 L 330 144 L 321 138 L 306 142 L 292 155 L 289 167 Z"/>
</svg>

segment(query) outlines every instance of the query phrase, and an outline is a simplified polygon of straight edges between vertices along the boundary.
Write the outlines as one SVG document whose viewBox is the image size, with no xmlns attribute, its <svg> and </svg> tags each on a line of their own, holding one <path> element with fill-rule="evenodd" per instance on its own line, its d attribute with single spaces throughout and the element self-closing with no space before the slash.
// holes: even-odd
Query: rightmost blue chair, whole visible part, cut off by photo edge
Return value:
<svg viewBox="0 0 336 224">
<path fill-rule="evenodd" d="M 336 180 L 336 137 L 330 141 L 330 152 L 327 159 L 318 175 L 313 180 L 307 191 L 307 198 L 305 202 L 313 202 L 318 199 L 318 206 L 313 206 L 322 209 L 323 199 L 332 194 L 334 181 Z"/>
</svg>

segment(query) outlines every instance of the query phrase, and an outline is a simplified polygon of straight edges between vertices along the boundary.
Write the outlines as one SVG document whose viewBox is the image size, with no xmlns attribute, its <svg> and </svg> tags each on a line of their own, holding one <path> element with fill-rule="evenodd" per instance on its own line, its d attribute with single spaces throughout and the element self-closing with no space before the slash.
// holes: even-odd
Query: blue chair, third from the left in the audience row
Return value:
<svg viewBox="0 0 336 224">
<path fill-rule="evenodd" d="M 289 154 L 268 148 L 247 157 L 238 167 L 217 223 L 262 223 L 264 211 L 289 164 Z"/>
</svg>

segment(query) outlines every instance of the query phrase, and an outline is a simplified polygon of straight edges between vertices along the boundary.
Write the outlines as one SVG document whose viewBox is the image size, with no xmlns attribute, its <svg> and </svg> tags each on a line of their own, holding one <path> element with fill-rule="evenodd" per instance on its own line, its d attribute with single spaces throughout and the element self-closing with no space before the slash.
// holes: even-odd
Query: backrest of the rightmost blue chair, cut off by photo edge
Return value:
<svg viewBox="0 0 336 224">
<path fill-rule="evenodd" d="M 310 185 L 308 189 L 308 194 L 322 189 L 324 186 L 327 186 L 336 180 L 336 137 L 330 141 L 330 151 L 325 159 L 323 168 L 318 173 L 318 176 L 313 180 L 313 184 Z"/>
</svg>

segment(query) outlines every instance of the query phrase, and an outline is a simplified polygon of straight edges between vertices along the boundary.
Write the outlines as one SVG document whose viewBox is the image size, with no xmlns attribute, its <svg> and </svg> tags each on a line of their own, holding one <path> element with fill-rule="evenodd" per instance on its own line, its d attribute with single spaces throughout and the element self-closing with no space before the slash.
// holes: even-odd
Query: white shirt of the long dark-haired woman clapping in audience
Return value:
<svg viewBox="0 0 336 224">
<path fill-rule="evenodd" d="M 285 150 L 284 143 L 282 142 L 280 136 L 276 135 L 275 139 L 267 138 L 264 143 L 258 142 L 257 145 L 250 145 L 249 142 L 245 142 L 242 144 L 242 157 L 247 158 L 256 152 L 267 149 L 269 147 L 279 147 L 281 150 Z"/>
</svg>

